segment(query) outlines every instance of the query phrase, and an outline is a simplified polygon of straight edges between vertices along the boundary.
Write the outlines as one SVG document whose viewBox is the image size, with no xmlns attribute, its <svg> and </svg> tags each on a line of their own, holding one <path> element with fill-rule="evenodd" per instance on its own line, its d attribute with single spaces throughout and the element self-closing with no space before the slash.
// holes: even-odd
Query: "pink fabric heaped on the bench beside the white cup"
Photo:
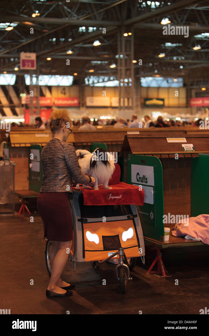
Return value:
<svg viewBox="0 0 209 336">
<path fill-rule="evenodd" d="M 209 245 L 209 215 L 190 217 L 189 225 L 188 223 L 185 224 L 184 220 L 180 220 L 179 223 L 175 224 L 171 234 L 176 237 L 190 235 Z"/>
</svg>

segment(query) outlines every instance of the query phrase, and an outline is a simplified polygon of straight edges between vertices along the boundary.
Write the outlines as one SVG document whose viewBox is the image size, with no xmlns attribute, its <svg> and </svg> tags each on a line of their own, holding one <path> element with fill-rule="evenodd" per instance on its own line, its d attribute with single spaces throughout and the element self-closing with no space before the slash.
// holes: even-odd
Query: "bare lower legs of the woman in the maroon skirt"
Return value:
<svg viewBox="0 0 209 336">
<path fill-rule="evenodd" d="M 66 264 L 67 258 L 69 256 L 67 252 L 67 248 L 70 249 L 71 247 L 71 241 L 68 242 L 57 242 L 58 243 L 58 252 L 56 253 L 54 259 L 53 259 L 53 266 L 52 266 L 52 274 L 48 286 L 48 290 L 55 292 L 55 293 L 60 293 L 64 294 L 66 293 L 65 289 L 62 289 L 58 287 L 58 282 L 60 282 L 60 276 L 62 274 L 62 271 L 64 269 L 64 266 Z M 53 250 L 52 250 L 53 252 Z M 50 253 L 51 254 L 51 253 Z M 62 282 L 65 284 L 65 282 Z M 60 283 L 59 283 L 60 285 Z M 67 284 L 68 285 L 68 284 Z M 66 286 L 67 286 L 66 285 Z M 63 285 L 62 287 L 64 287 Z"/>
</svg>

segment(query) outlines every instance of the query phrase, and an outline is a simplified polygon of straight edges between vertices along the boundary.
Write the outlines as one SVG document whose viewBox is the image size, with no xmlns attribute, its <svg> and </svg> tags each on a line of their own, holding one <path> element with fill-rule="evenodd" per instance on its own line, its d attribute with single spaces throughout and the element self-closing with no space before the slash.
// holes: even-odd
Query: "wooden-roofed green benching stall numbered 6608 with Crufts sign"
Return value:
<svg viewBox="0 0 209 336">
<path fill-rule="evenodd" d="M 119 157 L 124 182 L 145 191 L 144 205 L 138 206 L 144 237 L 162 247 L 198 244 L 171 235 L 164 243 L 164 226 L 172 230 L 181 216 L 209 213 L 209 136 L 128 134 Z"/>
</svg>

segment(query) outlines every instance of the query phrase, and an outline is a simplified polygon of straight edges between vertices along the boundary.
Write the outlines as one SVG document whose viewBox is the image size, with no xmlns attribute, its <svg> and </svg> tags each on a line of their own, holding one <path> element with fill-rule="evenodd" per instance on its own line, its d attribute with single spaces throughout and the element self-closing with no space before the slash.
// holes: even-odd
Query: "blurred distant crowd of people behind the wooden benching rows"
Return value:
<svg viewBox="0 0 209 336">
<path fill-rule="evenodd" d="M 90 120 L 88 116 L 83 116 L 81 120 L 72 121 L 74 126 L 79 126 L 79 130 L 96 130 L 96 126 L 113 126 L 113 128 L 122 128 L 122 127 L 128 127 L 128 128 L 150 128 L 150 127 L 187 127 L 187 126 L 193 126 L 193 127 L 199 127 L 200 121 L 203 121 L 203 119 L 194 120 L 193 122 L 188 121 L 180 121 L 180 120 L 173 120 L 173 119 L 167 119 L 163 118 L 162 116 L 159 116 L 157 120 L 152 120 L 152 118 L 148 115 L 144 116 L 142 119 L 138 119 L 138 116 L 134 114 L 132 116 L 132 119 L 124 119 L 119 118 L 116 119 L 107 119 L 107 120 L 97 120 L 94 119 L 93 121 Z M 31 125 L 19 123 L 19 125 L 15 122 L 11 123 L 12 127 L 20 127 L 20 126 L 26 126 L 30 127 Z M 41 117 L 35 118 L 35 126 L 38 129 L 47 129 L 50 126 L 49 120 L 47 120 L 46 123 L 44 123 L 41 119 Z M 77 127 L 76 127 L 77 128 Z"/>
</svg>

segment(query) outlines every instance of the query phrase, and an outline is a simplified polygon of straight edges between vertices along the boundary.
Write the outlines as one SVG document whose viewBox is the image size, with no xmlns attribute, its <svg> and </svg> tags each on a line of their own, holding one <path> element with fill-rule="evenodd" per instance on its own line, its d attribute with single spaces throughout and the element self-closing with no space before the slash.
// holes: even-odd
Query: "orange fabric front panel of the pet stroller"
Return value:
<svg viewBox="0 0 209 336">
<path fill-rule="evenodd" d="M 136 236 L 133 220 L 83 223 L 83 227 L 84 227 L 84 244 L 85 244 L 85 260 L 86 261 L 89 261 L 89 257 L 87 257 L 89 255 L 92 256 L 90 260 L 102 260 L 102 258 L 105 259 L 108 257 L 108 252 L 117 251 L 117 250 L 109 250 L 109 251 L 105 251 L 105 253 L 100 254 L 101 251 L 104 251 L 102 236 L 117 236 L 118 235 L 120 244 L 124 248 L 131 247 L 131 246 L 138 246 L 137 236 Z M 134 235 L 132 238 L 128 238 L 124 242 L 122 240 L 122 233 L 124 231 L 127 231 L 129 228 L 133 229 Z M 99 242 L 95 243 L 94 241 L 89 241 L 86 236 L 87 231 L 89 231 L 91 234 L 96 234 L 99 237 Z M 138 247 L 136 249 L 137 249 L 137 252 L 136 252 L 137 254 L 135 256 L 138 256 L 139 255 Z M 95 250 L 99 250 L 99 251 L 95 251 Z M 88 260 L 86 259 L 86 257 L 88 258 Z"/>
</svg>

